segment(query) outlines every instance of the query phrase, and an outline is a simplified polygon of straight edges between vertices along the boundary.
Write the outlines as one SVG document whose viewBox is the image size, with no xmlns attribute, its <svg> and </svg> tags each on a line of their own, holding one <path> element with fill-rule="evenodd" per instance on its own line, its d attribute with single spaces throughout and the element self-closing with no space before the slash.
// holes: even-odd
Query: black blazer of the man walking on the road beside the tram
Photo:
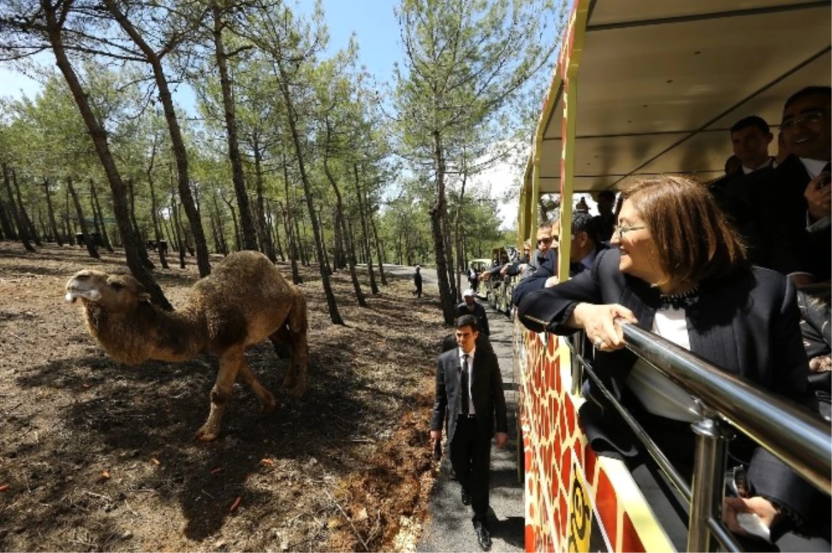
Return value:
<svg viewBox="0 0 832 553">
<path fill-rule="evenodd" d="M 436 362 L 436 395 L 430 417 L 430 429 L 442 430 L 448 415 L 448 443 L 453 441 L 459 417 L 459 348 L 453 348 L 439 356 Z M 508 432 L 506 397 L 503 393 L 503 377 L 497 356 L 488 350 L 476 348 L 471 372 L 471 398 L 476 412 L 480 436 L 489 439 L 497 432 Z"/>
</svg>

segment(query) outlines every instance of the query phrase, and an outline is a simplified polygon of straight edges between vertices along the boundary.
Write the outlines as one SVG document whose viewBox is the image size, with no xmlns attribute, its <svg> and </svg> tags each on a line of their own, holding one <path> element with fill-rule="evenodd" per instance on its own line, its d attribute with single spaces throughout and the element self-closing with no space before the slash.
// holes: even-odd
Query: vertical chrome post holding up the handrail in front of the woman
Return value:
<svg viewBox="0 0 832 553">
<path fill-rule="evenodd" d="M 687 532 L 689 553 L 716 553 L 719 542 L 708 521 L 720 520 L 724 496 L 728 442 L 734 432 L 721 419 L 703 418 L 691 424 L 696 434 L 696 458 L 691 482 L 691 519 Z"/>
</svg>

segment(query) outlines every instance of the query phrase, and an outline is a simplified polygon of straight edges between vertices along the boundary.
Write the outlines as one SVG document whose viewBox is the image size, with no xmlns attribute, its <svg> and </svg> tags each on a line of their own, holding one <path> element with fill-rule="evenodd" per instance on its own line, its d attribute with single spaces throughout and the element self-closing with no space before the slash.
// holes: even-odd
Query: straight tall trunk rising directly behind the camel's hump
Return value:
<svg viewBox="0 0 832 553">
<path fill-rule="evenodd" d="M 257 249 L 257 230 L 251 217 L 249 196 L 245 190 L 245 175 L 243 174 L 243 160 L 240 157 L 240 142 L 237 138 L 237 121 L 234 113 L 234 98 L 232 97 L 231 81 L 228 75 L 228 55 L 222 41 L 222 9 L 219 3 L 211 4 L 214 16 L 214 48 L 216 67 L 220 72 L 220 88 L 222 89 L 222 106 L 225 110 L 225 134 L 228 138 L 228 157 L 231 161 L 231 180 L 234 181 L 234 192 L 237 197 L 237 207 L 240 209 L 240 226 L 243 231 L 243 245 L 245 249 Z M 255 152 L 256 156 L 256 152 Z M 274 257 L 274 254 L 272 254 Z"/>
</svg>

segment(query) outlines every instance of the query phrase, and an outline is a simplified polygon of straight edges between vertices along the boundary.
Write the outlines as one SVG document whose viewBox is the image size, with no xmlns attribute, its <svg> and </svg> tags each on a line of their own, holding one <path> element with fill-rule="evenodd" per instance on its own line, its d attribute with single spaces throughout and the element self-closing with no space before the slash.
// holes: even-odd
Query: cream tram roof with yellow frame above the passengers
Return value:
<svg viewBox="0 0 832 553">
<path fill-rule="evenodd" d="M 716 178 L 730 156 L 735 121 L 761 116 L 776 136 L 785 99 L 832 78 L 829 0 L 575 3 L 587 10 L 572 42 L 581 50 L 575 191 L 617 189 L 639 175 Z M 569 47 L 564 39 L 562 48 Z M 558 65 L 532 154 L 540 160 L 541 194 L 560 190 L 561 73 Z M 529 160 L 529 187 L 531 178 Z"/>
</svg>

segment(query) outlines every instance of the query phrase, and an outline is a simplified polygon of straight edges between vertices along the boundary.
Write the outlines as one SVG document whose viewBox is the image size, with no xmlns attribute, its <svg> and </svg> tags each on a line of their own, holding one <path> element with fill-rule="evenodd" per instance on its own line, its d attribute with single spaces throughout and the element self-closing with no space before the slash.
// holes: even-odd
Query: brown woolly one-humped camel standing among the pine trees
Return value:
<svg viewBox="0 0 832 553">
<path fill-rule="evenodd" d="M 264 412 L 274 410 L 275 398 L 260 385 L 245 358 L 245 348 L 265 338 L 275 351 L 289 350 L 284 385 L 295 397 L 305 392 L 306 299 L 259 252 L 230 254 L 191 287 L 188 303 L 177 311 L 151 304 L 150 295 L 128 274 L 78 271 L 67 282 L 66 299 L 79 298 L 92 338 L 120 363 L 186 361 L 202 352 L 220 358 L 210 414 L 196 432 L 197 440 L 216 439 L 235 380 L 251 388 Z"/>
</svg>

